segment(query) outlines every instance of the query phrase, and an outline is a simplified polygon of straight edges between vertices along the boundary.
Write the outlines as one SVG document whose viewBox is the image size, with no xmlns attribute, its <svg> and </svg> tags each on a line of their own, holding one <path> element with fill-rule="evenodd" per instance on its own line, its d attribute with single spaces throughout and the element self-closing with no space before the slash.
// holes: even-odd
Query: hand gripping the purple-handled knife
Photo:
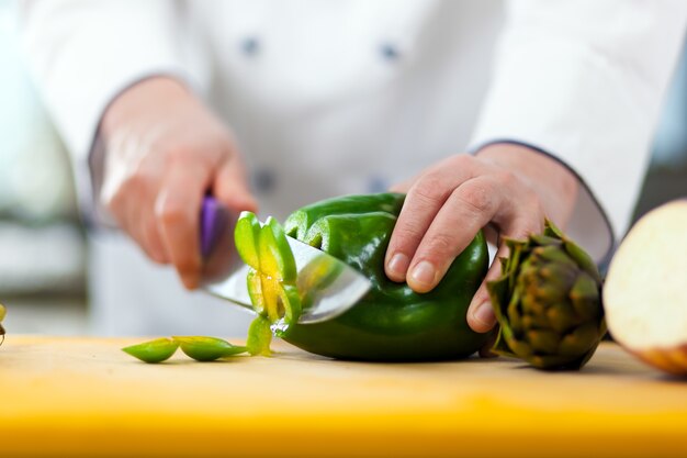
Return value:
<svg viewBox="0 0 687 458">
<path fill-rule="evenodd" d="M 199 215 L 206 191 L 234 211 L 256 211 L 230 133 L 184 86 L 146 79 L 108 108 L 101 203 L 153 260 L 199 286 Z"/>
</svg>

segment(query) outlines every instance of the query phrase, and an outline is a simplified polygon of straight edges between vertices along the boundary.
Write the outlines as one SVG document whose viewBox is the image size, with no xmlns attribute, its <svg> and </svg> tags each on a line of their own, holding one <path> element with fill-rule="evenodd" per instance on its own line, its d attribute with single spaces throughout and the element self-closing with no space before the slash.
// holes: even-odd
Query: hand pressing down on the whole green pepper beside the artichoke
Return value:
<svg viewBox="0 0 687 458">
<path fill-rule="evenodd" d="M 457 155 L 394 187 L 407 192 L 386 250 L 386 276 L 430 291 L 481 228 L 497 243 L 496 259 L 468 310 L 468 323 L 487 332 L 496 323 L 486 282 L 508 256 L 502 237 L 543 231 L 544 217 L 565 227 L 577 198 L 577 179 L 554 159 L 530 148 L 494 144 L 476 156 Z"/>
</svg>

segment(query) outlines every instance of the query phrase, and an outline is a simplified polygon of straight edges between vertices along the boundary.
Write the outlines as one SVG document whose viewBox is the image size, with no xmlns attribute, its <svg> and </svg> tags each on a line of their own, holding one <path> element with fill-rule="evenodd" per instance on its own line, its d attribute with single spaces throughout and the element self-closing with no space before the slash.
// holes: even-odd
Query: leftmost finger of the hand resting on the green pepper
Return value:
<svg viewBox="0 0 687 458">
<path fill-rule="evenodd" d="M 471 177 L 470 164 L 461 157 L 441 161 L 408 190 L 386 248 L 384 267 L 392 281 L 405 281 L 410 259 L 425 232 L 451 192 Z"/>
</svg>

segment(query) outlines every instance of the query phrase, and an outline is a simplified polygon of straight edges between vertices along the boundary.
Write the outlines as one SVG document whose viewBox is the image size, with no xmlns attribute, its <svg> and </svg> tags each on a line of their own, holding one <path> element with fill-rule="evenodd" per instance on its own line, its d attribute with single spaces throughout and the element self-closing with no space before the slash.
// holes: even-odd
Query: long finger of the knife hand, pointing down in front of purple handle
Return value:
<svg viewBox="0 0 687 458">
<path fill-rule="evenodd" d="M 200 164 L 177 163 L 165 178 L 155 214 L 166 252 L 188 289 L 200 280 L 199 214 L 211 170 Z"/>
</svg>

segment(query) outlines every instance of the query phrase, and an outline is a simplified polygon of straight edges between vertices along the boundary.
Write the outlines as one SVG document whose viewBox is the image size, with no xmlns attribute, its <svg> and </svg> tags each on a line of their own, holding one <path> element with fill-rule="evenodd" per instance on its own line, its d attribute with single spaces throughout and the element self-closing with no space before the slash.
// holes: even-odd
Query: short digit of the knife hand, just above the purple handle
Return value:
<svg viewBox="0 0 687 458">
<path fill-rule="evenodd" d="M 221 166 L 213 183 L 213 194 L 234 211 L 258 210 L 258 203 L 248 188 L 246 170 L 237 155 Z"/>
</svg>

